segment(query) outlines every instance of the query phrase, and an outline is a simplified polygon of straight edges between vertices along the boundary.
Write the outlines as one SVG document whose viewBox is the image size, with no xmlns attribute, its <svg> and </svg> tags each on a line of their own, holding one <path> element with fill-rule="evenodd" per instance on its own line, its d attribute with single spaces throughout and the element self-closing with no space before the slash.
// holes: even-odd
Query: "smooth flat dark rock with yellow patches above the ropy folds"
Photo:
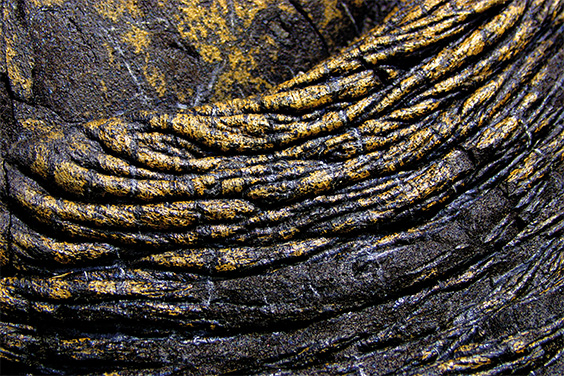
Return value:
<svg viewBox="0 0 564 376">
<path fill-rule="evenodd" d="M 246 96 L 354 35 L 361 4 L 327 3 L 7 1 L 8 76 L 17 97 L 66 121 Z"/>
</svg>

